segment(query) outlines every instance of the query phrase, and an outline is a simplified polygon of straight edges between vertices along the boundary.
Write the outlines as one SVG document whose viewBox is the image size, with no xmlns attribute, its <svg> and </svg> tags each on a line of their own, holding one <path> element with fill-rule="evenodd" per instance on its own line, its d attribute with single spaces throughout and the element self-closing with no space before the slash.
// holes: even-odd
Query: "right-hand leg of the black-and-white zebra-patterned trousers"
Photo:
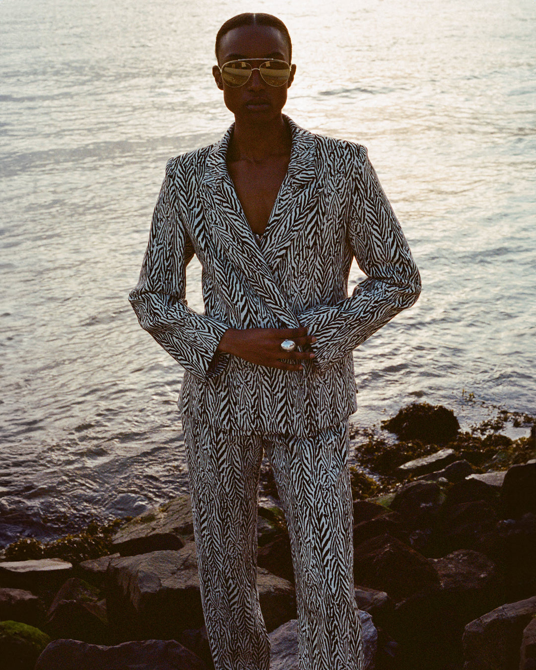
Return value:
<svg viewBox="0 0 536 670">
<path fill-rule="evenodd" d="M 354 596 L 348 422 L 265 440 L 294 565 L 300 670 L 362 670 Z"/>
</svg>

